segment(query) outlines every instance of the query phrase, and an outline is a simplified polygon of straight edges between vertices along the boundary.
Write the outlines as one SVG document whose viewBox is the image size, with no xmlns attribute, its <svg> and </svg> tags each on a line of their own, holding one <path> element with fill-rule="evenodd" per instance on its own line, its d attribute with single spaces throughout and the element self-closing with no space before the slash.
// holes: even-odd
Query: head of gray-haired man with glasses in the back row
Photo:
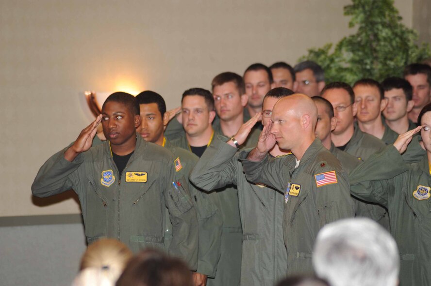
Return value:
<svg viewBox="0 0 431 286">
<path fill-rule="evenodd" d="M 295 67 L 295 92 L 310 97 L 317 96 L 325 87 L 325 73 L 320 65 L 311 60 L 298 63 Z"/>
</svg>

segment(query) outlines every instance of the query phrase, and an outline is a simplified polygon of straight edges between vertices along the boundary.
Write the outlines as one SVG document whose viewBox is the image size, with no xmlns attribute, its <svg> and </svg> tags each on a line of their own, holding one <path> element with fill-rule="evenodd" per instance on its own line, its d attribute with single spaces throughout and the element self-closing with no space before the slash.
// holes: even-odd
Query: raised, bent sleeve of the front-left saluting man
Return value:
<svg viewBox="0 0 431 286">
<path fill-rule="evenodd" d="M 64 157 L 66 149 L 52 155 L 39 169 L 32 184 L 33 196 L 47 197 L 75 189 L 70 177 L 83 163 L 84 154 L 79 154 L 73 162 L 69 162 Z"/>
</svg>

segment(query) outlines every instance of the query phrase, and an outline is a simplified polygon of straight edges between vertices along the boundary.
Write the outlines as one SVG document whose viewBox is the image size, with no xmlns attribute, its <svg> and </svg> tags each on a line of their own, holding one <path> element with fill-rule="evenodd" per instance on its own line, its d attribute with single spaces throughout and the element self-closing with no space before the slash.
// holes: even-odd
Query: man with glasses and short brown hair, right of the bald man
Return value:
<svg viewBox="0 0 431 286">
<path fill-rule="evenodd" d="M 354 117 L 357 112 L 355 94 L 347 83 L 332 82 L 323 88 L 321 96 L 334 108 L 337 125 L 332 131 L 331 140 L 335 147 L 365 161 L 385 146 L 383 141 L 355 126 Z M 387 211 L 383 207 L 357 200 L 355 203 L 356 216 L 369 217 L 389 229 Z"/>
</svg>

